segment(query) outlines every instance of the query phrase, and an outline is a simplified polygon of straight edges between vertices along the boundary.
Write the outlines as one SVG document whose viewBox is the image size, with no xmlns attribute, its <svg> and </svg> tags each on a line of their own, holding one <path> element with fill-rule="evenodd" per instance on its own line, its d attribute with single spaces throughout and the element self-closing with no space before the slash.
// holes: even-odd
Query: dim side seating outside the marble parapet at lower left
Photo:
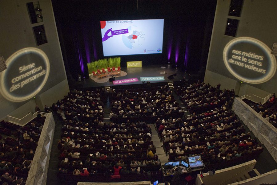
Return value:
<svg viewBox="0 0 277 185">
<path fill-rule="evenodd" d="M 0 122 L 0 184 L 26 182 L 44 121 L 39 116 L 23 127 Z"/>
</svg>

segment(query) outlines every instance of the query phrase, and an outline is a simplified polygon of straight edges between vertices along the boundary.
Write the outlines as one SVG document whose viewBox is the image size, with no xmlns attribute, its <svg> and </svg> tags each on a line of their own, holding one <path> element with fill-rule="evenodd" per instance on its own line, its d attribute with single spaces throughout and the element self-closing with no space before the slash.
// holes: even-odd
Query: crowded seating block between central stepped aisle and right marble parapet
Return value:
<svg viewBox="0 0 277 185">
<path fill-rule="evenodd" d="M 169 161 L 201 155 L 208 169 L 221 169 L 257 158 L 263 151 L 250 133 L 244 134 L 240 120 L 227 109 L 234 97 L 232 90 L 221 91 L 219 85 L 213 88 L 197 82 L 179 86 L 176 93 L 192 114 L 156 121 Z"/>
</svg>

